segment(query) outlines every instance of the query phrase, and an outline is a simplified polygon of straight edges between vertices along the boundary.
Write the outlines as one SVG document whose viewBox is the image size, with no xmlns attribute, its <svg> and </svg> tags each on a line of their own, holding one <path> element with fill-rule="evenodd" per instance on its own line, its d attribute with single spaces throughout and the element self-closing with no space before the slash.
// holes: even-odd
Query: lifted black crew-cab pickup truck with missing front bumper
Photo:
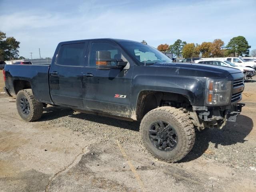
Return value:
<svg viewBox="0 0 256 192">
<path fill-rule="evenodd" d="M 195 129 L 222 128 L 244 106 L 240 70 L 173 63 L 130 40 L 61 42 L 51 65 L 6 65 L 4 80 L 25 121 L 38 120 L 47 104 L 141 121 L 144 144 L 166 162 L 190 152 Z"/>
</svg>

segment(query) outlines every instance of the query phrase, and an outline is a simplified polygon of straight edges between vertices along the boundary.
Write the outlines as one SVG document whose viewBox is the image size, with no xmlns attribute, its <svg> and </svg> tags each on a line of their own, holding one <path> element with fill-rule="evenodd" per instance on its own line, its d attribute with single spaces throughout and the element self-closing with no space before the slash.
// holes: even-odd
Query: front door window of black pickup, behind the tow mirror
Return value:
<svg viewBox="0 0 256 192">
<path fill-rule="evenodd" d="M 90 56 L 89 56 L 89 66 L 96 67 L 96 51 L 109 51 L 112 59 L 121 59 L 122 54 L 120 48 L 103 42 L 94 42 L 91 45 Z M 116 62 L 112 62 L 115 65 Z"/>
</svg>

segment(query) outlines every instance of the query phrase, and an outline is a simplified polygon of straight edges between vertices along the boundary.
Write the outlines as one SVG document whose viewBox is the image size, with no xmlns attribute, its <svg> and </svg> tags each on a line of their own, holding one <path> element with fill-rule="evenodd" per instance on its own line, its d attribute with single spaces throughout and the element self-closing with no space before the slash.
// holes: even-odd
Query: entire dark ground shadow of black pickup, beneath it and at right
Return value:
<svg viewBox="0 0 256 192">
<path fill-rule="evenodd" d="M 43 116 L 39 121 L 53 120 L 64 116 L 106 124 L 108 126 L 116 126 L 136 132 L 138 132 L 140 128 L 140 122 L 128 122 L 125 120 L 84 113 L 74 114 L 72 109 L 64 107 L 44 108 Z M 228 122 L 228 125 L 222 130 L 207 128 L 200 132 L 197 131 L 194 147 L 191 152 L 179 162 L 189 162 L 199 158 L 203 154 L 211 155 L 211 150 L 208 150 L 210 143 L 214 144 L 214 148 L 217 150 L 220 145 L 229 146 L 236 143 L 244 143 L 246 142 L 244 138 L 251 132 L 252 128 L 252 119 L 248 116 L 239 115 L 236 122 Z M 214 154 L 214 152 L 212 153 Z"/>
</svg>

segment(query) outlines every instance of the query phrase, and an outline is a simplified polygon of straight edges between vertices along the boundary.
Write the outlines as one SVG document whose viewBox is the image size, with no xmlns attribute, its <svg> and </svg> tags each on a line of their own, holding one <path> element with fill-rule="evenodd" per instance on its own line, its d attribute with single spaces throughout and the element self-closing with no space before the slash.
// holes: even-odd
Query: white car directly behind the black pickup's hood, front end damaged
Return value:
<svg viewBox="0 0 256 192">
<path fill-rule="evenodd" d="M 256 75 L 256 70 L 250 67 L 242 67 L 242 66 L 237 66 L 227 60 L 220 60 L 220 59 L 210 59 L 210 58 L 202 58 L 200 60 L 196 60 L 195 63 L 198 64 L 209 64 L 209 65 L 218 65 L 218 66 L 226 66 L 226 67 L 232 67 L 232 68 L 237 68 L 240 71 L 244 73 L 244 79 L 248 80 L 251 79 L 253 76 Z"/>
</svg>

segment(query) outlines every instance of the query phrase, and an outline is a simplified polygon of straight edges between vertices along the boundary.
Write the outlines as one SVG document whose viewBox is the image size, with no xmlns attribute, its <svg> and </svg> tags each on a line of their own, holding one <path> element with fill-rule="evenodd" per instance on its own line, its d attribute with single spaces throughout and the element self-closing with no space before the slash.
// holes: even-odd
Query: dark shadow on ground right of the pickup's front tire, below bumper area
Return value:
<svg viewBox="0 0 256 192">
<path fill-rule="evenodd" d="M 196 141 L 190 153 L 179 162 L 189 162 L 206 154 L 214 156 L 218 153 L 220 145 L 229 146 L 236 143 L 244 143 L 246 136 L 252 131 L 253 121 L 248 116 L 239 115 L 236 122 L 228 122 L 222 130 L 207 128 L 201 132 L 196 132 Z M 214 144 L 216 150 L 208 149 L 210 142 Z"/>
</svg>

